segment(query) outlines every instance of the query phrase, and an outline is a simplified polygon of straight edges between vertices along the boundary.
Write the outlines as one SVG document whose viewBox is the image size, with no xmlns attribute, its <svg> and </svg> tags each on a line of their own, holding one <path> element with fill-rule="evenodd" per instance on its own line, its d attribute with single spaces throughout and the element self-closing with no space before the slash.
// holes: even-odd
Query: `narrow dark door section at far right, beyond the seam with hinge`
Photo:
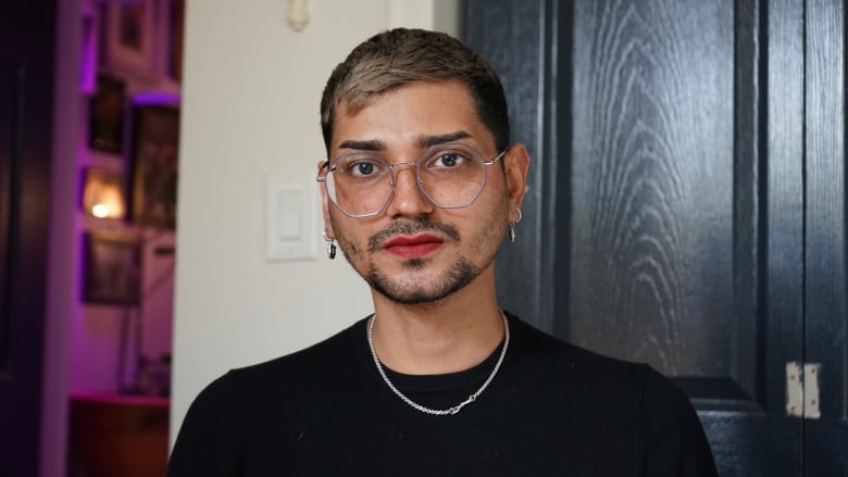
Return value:
<svg viewBox="0 0 848 477">
<path fill-rule="evenodd" d="M 809 476 L 848 476 L 848 306 L 846 305 L 845 2 L 805 9 L 805 361 L 819 387 L 806 401 Z M 809 390 L 809 389 L 808 389 Z"/>
</svg>

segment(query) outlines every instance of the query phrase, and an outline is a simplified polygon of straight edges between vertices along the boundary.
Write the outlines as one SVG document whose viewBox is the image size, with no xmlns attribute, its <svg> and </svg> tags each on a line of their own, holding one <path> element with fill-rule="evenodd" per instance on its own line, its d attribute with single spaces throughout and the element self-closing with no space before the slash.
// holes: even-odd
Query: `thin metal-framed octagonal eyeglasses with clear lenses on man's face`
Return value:
<svg viewBox="0 0 848 477">
<path fill-rule="evenodd" d="M 395 193 L 395 167 L 415 168 L 419 189 L 440 209 L 462 209 L 471 205 L 486 186 L 486 166 L 498 162 L 504 149 L 486 160 L 470 146 L 438 145 L 427 149 L 415 162 L 389 164 L 373 152 L 354 152 L 322 165 L 327 197 L 339 211 L 353 218 L 372 217 L 383 212 Z"/>
</svg>

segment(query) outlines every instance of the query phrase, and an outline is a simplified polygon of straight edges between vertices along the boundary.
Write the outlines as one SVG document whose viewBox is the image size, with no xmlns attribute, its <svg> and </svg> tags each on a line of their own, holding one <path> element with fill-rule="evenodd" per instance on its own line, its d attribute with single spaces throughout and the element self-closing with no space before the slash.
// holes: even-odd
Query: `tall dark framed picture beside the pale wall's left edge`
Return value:
<svg viewBox="0 0 848 477">
<path fill-rule="evenodd" d="M 174 228 L 176 224 L 179 109 L 137 105 L 134 110 L 133 222 Z"/>
</svg>

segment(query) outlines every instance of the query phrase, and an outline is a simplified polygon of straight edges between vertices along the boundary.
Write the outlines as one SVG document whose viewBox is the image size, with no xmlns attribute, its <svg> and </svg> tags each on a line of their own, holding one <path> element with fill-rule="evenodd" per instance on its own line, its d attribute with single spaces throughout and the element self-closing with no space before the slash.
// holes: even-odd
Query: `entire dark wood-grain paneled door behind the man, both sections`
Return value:
<svg viewBox="0 0 848 477">
<path fill-rule="evenodd" d="M 532 156 L 499 299 L 691 397 L 724 476 L 846 472 L 844 7 L 467 1 Z M 788 386 L 820 363 L 819 418 Z"/>
</svg>

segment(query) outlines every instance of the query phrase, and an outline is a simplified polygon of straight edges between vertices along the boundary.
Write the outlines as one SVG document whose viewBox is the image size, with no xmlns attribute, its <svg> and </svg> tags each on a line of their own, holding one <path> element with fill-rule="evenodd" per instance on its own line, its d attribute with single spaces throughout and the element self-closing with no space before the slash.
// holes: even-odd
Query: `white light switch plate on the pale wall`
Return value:
<svg viewBox="0 0 848 477">
<path fill-rule="evenodd" d="M 265 180 L 265 259 L 317 256 L 317 198 L 309 175 L 270 175 Z"/>
</svg>

